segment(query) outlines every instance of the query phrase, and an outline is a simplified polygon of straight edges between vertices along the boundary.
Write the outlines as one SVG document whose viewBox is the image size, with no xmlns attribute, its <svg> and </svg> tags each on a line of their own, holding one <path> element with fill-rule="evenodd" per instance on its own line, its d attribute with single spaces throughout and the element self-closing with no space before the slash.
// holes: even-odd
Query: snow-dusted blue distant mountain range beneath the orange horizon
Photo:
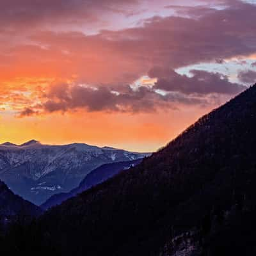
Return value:
<svg viewBox="0 0 256 256">
<path fill-rule="evenodd" d="M 50 196 L 76 188 L 93 169 L 104 163 L 140 159 L 147 154 L 86 144 L 0 145 L 0 179 L 23 198 L 42 204 Z"/>
</svg>

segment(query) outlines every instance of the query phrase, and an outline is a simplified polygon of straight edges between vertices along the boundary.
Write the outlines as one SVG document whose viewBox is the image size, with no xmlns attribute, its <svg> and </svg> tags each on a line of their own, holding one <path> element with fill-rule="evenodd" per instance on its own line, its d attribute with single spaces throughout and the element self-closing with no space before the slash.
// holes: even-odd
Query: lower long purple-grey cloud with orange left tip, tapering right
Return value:
<svg viewBox="0 0 256 256">
<path fill-rule="evenodd" d="M 62 90 L 60 90 L 62 88 Z M 66 112 L 85 109 L 89 112 L 152 112 L 158 108 L 177 109 L 179 106 L 209 104 L 200 96 L 188 96 L 180 92 L 160 94 L 155 88 L 140 87 L 136 90 L 126 86 L 122 93 L 115 92 L 106 86 L 92 88 L 82 85 L 58 84 L 52 86 L 45 94 L 45 102 L 24 109 L 20 116 Z"/>
</svg>

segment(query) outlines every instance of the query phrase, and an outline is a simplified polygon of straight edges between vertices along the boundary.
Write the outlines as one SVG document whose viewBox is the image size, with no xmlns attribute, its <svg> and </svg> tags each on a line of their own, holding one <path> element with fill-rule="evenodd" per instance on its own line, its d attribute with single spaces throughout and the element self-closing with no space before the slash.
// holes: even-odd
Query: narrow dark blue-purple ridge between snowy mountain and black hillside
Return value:
<svg viewBox="0 0 256 256">
<path fill-rule="evenodd" d="M 102 164 L 102 166 L 96 168 L 86 175 L 77 188 L 72 189 L 68 193 L 60 193 L 51 196 L 44 204 L 40 205 L 40 207 L 47 210 L 54 205 L 61 204 L 63 201 L 82 193 L 86 189 L 92 188 L 92 186 L 108 180 L 117 173 L 120 173 L 122 170 L 128 170 L 131 167 L 136 166 L 137 164 L 141 163 L 141 161 L 142 159 L 137 159 L 125 162 Z"/>
</svg>

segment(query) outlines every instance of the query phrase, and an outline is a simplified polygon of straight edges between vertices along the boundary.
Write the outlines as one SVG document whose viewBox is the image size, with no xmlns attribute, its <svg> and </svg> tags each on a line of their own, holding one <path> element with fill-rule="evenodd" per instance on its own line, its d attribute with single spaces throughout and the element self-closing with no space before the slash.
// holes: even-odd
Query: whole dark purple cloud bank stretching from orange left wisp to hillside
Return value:
<svg viewBox="0 0 256 256">
<path fill-rule="evenodd" d="M 220 74 L 192 70 L 193 77 L 181 76 L 175 71 L 154 68 L 150 76 L 159 80 L 153 87 L 122 86 L 118 92 L 110 87 L 57 84 L 45 93 L 45 102 L 33 108 L 26 108 L 20 116 L 40 113 L 66 112 L 85 109 L 89 112 L 150 112 L 159 108 L 177 109 L 179 106 L 209 105 L 216 93 L 235 94 L 246 86 L 230 83 Z M 159 77 L 161 76 L 161 78 Z M 113 86 L 115 87 L 115 86 Z M 159 92 L 158 90 L 162 90 Z M 216 100 L 215 100 L 216 101 Z"/>
</svg>

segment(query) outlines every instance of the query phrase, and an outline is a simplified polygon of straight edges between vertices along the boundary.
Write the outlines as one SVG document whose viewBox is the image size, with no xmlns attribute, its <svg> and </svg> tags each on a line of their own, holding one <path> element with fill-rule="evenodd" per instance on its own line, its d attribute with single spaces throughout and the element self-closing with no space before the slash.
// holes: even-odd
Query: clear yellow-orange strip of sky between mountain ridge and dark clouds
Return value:
<svg viewBox="0 0 256 256">
<path fill-rule="evenodd" d="M 204 111 L 190 109 L 186 112 L 138 115 L 79 111 L 28 118 L 2 115 L 0 142 L 12 141 L 19 144 L 35 138 L 49 144 L 80 142 L 151 152 L 175 138 Z"/>
</svg>

